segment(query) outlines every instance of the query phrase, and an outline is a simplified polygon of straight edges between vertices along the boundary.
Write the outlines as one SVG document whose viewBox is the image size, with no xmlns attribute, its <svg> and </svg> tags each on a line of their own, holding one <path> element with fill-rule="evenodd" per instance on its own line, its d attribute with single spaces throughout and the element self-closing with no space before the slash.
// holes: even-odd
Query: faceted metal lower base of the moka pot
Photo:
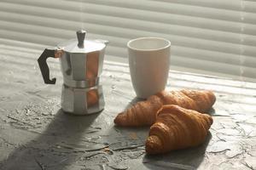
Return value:
<svg viewBox="0 0 256 170">
<path fill-rule="evenodd" d="M 102 86 L 70 88 L 62 85 L 61 108 L 75 115 L 88 115 L 104 109 Z"/>
</svg>

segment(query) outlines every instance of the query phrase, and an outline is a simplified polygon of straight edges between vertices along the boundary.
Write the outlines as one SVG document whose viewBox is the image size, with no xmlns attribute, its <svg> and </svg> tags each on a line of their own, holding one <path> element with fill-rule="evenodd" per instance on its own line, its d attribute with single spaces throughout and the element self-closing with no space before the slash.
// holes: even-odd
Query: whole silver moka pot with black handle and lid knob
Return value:
<svg viewBox="0 0 256 170">
<path fill-rule="evenodd" d="M 55 84 L 49 78 L 46 59 L 60 59 L 63 85 L 61 108 L 75 115 L 102 111 L 105 105 L 100 76 L 108 43 L 106 40 L 85 40 L 86 31 L 77 31 L 78 39 L 62 42 L 55 48 L 45 48 L 38 58 L 44 82 Z"/>
</svg>

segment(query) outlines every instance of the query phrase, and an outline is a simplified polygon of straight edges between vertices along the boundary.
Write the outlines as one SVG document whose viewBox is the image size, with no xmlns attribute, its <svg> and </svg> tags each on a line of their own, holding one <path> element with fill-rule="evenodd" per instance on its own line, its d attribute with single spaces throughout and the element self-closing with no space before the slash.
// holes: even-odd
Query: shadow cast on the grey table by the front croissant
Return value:
<svg viewBox="0 0 256 170">
<path fill-rule="evenodd" d="M 204 160 L 207 145 L 212 139 L 212 134 L 207 135 L 204 144 L 184 150 L 173 150 L 163 155 L 146 155 L 143 164 L 148 169 L 197 169 Z"/>
</svg>

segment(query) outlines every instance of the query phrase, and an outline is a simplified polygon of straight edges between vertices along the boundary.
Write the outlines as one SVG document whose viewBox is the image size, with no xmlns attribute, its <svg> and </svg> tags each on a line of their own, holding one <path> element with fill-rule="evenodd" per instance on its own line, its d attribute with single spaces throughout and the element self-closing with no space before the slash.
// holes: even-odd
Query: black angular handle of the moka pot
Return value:
<svg viewBox="0 0 256 170">
<path fill-rule="evenodd" d="M 56 78 L 49 79 L 49 66 L 46 62 L 49 57 L 55 58 L 55 49 L 45 48 L 43 54 L 38 58 L 38 65 L 44 78 L 44 83 L 55 84 Z"/>
</svg>

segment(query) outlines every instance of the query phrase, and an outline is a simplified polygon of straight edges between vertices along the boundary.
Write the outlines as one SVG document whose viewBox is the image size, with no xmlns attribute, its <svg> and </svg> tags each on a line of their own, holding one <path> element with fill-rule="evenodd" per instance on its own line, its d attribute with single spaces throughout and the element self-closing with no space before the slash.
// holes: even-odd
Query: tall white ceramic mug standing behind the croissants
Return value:
<svg viewBox="0 0 256 170">
<path fill-rule="evenodd" d="M 127 43 L 132 86 L 138 98 L 147 99 L 166 88 L 171 42 L 160 37 L 140 37 Z"/>
</svg>

